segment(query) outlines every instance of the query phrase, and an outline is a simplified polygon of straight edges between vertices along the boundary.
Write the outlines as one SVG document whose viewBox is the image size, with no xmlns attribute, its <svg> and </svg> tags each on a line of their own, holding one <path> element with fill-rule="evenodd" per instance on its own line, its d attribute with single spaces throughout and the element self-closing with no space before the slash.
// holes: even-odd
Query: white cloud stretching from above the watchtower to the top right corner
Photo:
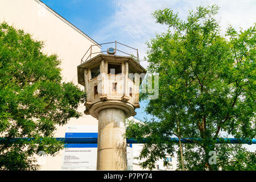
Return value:
<svg viewBox="0 0 256 182">
<path fill-rule="evenodd" d="M 92 37 L 97 42 L 118 42 L 139 49 L 141 59 L 146 56 L 146 42 L 155 37 L 155 33 L 165 32 L 166 26 L 155 23 L 152 13 L 155 10 L 170 7 L 174 12 L 178 12 L 181 19 L 185 19 L 188 10 L 195 10 L 197 6 L 212 5 L 216 3 L 220 6 L 217 15 L 223 31 L 229 24 L 235 28 L 249 28 L 256 20 L 256 1 L 255 0 L 214 0 L 214 1 L 114 1 L 115 12 L 105 20 L 105 23 L 94 32 Z M 141 63 L 143 66 L 147 64 Z"/>
</svg>

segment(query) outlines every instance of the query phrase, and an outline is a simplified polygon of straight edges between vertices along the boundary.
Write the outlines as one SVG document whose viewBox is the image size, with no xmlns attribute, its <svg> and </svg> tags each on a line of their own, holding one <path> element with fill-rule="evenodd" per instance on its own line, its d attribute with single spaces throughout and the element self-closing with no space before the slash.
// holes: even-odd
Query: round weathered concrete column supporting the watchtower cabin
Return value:
<svg viewBox="0 0 256 182">
<path fill-rule="evenodd" d="M 98 114 L 97 170 L 127 170 L 125 112 L 103 109 Z"/>
</svg>

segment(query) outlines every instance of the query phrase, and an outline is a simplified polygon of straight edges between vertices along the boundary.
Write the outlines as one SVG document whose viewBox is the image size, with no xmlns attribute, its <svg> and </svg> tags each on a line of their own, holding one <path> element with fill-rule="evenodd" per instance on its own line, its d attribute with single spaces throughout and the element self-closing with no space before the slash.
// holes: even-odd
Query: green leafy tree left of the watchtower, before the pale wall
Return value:
<svg viewBox="0 0 256 182">
<path fill-rule="evenodd" d="M 30 34 L 0 24 L 1 170 L 38 169 L 36 154 L 55 155 L 64 147 L 52 138 L 56 126 L 81 115 L 76 109 L 84 92 L 72 82 L 61 82 L 61 61 L 42 48 L 43 42 Z"/>
</svg>

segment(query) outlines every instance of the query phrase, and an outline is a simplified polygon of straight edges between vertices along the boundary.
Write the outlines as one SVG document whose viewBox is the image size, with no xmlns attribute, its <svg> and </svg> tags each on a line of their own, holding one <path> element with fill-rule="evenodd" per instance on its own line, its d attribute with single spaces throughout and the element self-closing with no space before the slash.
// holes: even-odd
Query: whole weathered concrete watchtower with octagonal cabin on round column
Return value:
<svg viewBox="0 0 256 182">
<path fill-rule="evenodd" d="M 131 56 L 108 53 L 80 64 L 78 82 L 87 96 L 84 113 L 98 119 L 97 170 L 127 170 L 125 118 L 136 114 L 146 70 Z"/>
</svg>

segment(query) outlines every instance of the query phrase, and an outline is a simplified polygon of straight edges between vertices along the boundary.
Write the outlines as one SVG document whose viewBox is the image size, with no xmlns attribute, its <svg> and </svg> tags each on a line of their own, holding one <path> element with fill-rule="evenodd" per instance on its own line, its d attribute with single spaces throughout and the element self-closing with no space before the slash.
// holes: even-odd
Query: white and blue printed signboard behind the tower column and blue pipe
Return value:
<svg viewBox="0 0 256 182">
<path fill-rule="evenodd" d="M 65 138 L 97 138 L 97 126 L 67 126 Z M 97 169 L 97 143 L 69 143 L 63 151 L 63 171 Z M 133 171 L 133 148 L 127 144 L 127 169 Z"/>
</svg>

